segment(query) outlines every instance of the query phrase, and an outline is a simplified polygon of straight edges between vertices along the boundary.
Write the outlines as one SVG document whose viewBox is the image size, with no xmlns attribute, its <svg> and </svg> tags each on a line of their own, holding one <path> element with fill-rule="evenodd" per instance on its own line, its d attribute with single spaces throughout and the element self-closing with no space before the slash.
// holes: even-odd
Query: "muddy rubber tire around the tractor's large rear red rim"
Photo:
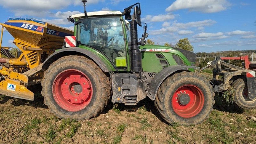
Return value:
<svg viewBox="0 0 256 144">
<path fill-rule="evenodd" d="M 53 92 L 53 89 L 55 88 L 54 83 L 57 81 L 57 77 L 70 69 L 82 72 L 91 82 L 90 86 L 92 90 L 90 93 L 91 98 L 89 104 L 85 107 L 82 106 L 82 109 L 78 111 L 63 108 L 63 106 L 58 104 L 60 102 L 57 102 L 58 99 L 56 100 L 56 96 L 54 96 L 55 94 Z M 44 72 L 42 87 L 44 104 L 50 108 L 52 113 L 59 118 L 70 118 L 75 120 L 88 120 L 100 114 L 100 112 L 107 106 L 111 92 L 109 76 L 107 76 L 107 74 L 104 73 L 92 60 L 78 55 L 64 56 L 53 62 Z M 82 87 L 82 89 L 84 90 L 84 87 Z"/>
</svg>

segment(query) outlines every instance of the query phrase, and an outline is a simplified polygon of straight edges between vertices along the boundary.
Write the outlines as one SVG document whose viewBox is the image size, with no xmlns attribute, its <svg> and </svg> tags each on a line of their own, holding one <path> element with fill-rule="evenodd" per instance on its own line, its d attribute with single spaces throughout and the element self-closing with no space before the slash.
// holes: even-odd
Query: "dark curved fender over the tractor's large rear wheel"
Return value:
<svg viewBox="0 0 256 144">
<path fill-rule="evenodd" d="M 112 72 L 111 66 L 104 60 L 102 60 L 98 55 L 95 53 L 79 48 L 79 47 L 70 47 L 61 49 L 60 51 L 54 52 L 52 55 L 50 55 L 43 63 L 42 69 L 48 69 L 49 66 L 52 64 L 52 62 L 58 60 L 59 58 L 63 56 L 68 55 L 84 55 L 85 57 L 92 59 L 104 72 Z"/>
</svg>

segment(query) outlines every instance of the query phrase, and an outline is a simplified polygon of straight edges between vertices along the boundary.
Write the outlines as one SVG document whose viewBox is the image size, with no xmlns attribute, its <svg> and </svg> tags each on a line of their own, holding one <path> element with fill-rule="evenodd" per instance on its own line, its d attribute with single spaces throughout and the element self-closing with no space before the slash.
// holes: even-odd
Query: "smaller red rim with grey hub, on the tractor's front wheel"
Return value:
<svg viewBox="0 0 256 144">
<path fill-rule="evenodd" d="M 186 97 L 184 104 L 182 97 Z M 184 85 L 180 87 L 172 96 L 172 108 L 174 112 L 184 118 L 196 116 L 204 107 L 204 94 L 195 85 Z"/>
</svg>

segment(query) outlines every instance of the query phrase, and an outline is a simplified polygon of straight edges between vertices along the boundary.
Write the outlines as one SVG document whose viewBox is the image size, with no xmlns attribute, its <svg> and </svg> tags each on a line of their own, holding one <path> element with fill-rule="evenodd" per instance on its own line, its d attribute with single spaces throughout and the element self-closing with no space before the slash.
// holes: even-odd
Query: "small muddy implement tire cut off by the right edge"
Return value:
<svg viewBox="0 0 256 144">
<path fill-rule="evenodd" d="M 232 83 L 232 89 L 235 90 L 234 93 L 234 101 L 236 105 L 243 109 L 255 109 L 256 108 L 256 99 L 254 100 L 246 100 L 246 94 L 244 94 L 244 89 L 246 91 L 246 79 L 238 78 Z M 247 92 L 248 93 L 248 92 Z"/>
</svg>

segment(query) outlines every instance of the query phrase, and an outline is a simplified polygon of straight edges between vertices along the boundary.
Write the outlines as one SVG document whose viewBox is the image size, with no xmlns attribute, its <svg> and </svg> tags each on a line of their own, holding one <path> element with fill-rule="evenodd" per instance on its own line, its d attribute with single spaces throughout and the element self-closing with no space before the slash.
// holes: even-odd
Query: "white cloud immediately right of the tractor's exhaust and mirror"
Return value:
<svg viewBox="0 0 256 144">
<path fill-rule="evenodd" d="M 173 15 L 172 13 L 168 13 L 168 14 L 159 14 L 156 16 L 146 15 L 146 17 L 142 18 L 141 21 L 160 22 L 160 21 L 172 20 L 174 18 L 175 18 L 175 15 Z"/>
</svg>

